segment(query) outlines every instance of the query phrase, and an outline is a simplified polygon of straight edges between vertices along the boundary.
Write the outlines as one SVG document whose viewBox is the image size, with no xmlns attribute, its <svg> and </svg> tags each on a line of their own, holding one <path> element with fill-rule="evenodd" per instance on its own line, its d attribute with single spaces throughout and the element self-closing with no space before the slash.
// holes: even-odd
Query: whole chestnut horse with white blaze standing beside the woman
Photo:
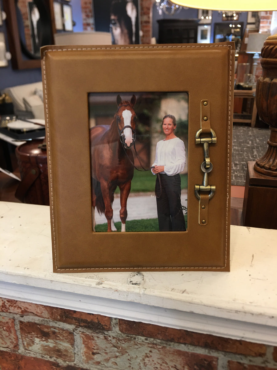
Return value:
<svg viewBox="0 0 277 370">
<path fill-rule="evenodd" d="M 133 95 L 130 101 L 122 101 L 117 95 L 116 102 L 118 108 L 112 124 L 90 129 L 93 231 L 95 207 L 99 213 L 105 212 L 107 231 L 116 231 L 112 204 L 117 186 L 120 189 L 121 231 L 125 231 L 127 198 L 134 175 L 133 153 L 127 149 L 133 146 L 136 136 L 136 97 Z"/>
</svg>

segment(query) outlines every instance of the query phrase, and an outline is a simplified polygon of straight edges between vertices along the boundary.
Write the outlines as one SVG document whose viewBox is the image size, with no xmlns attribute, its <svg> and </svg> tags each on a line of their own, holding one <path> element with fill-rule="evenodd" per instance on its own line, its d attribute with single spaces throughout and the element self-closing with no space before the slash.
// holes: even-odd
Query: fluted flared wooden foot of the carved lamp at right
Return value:
<svg viewBox="0 0 277 370">
<path fill-rule="evenodd" d="M 277 128 L 270 127 L 269 147 L 263 157 L 256 160 L 254 170 L 260 174 L 277 177 Z"/>
</svg>

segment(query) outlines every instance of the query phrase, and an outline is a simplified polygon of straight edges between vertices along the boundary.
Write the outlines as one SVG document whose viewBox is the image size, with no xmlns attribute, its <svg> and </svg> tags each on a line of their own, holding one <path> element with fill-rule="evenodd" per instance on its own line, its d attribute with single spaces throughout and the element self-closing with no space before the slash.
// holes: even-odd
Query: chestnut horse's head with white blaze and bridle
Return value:
<svg viewBox="0 0 277 370">
<path fill-rule="evenodd" d="M 134 145 L 136 139 L 136 122 L 137 117 L 134 111 L 136 97 L 133 95 L 130 101 L 122 101 L 120 95 L 117 95 L 117 112 L 116 122 L 120 135 L 120 141 L 124 148 L 130 149 Z"/>
</svg>

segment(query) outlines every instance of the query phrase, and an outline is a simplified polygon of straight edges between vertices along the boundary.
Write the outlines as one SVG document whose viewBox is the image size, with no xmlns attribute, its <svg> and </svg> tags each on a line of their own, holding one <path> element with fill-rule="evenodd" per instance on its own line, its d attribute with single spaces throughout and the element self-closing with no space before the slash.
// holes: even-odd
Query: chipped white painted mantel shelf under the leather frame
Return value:
<svg viewBox="0 0 277 370">
<path fill-rule="evenodd" d="M 277 345 L 277 230 L 231 226 L 231 272 L 53 273 L 48 206 L 0 202 L 0 296 Z"/>
</svg>

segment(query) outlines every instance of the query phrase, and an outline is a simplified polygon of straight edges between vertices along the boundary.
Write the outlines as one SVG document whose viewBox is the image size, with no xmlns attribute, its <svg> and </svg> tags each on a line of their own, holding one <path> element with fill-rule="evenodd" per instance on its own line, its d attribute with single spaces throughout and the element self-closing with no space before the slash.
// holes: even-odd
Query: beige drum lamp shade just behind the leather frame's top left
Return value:
<svg viewBox="0 0 277 370">
<path fill-rule="evenodd" d="M 111 45 L 109 32 L 61 32 L 54 34 L 55 45 Z"/>
</svg>

